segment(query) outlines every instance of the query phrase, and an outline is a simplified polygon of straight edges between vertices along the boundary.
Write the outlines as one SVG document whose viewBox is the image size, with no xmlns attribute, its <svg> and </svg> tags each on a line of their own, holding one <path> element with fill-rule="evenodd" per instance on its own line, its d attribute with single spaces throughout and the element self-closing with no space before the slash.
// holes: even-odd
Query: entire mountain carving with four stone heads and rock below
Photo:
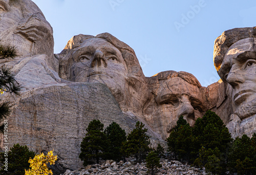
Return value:
<svg viewBox="0 0 256 175">
<path fill-rule="evenodd" d="M 104 126 L 115 121 L 127 133 L 142 121 L 152 146 L 164 143 L 180 115 L 193 126 L 209 109 L 232 137 L 256 132 L 255 28 L 216 39 L 214 64 L 222 81 L 202 87 L 184 71 L 145 77 L 133 49 L 109 33 L 76 35 L 53 54 L 53 30 L 32 1 L 0 2 L 0 44 L 14 46 L 18 55 L 0 66 L 11 68 L 23 86 L 20 96 L 1 97 L 13 104 L 9 146 L 26 144 L 36 153 L 54 148 L 59 163 L 75 169 L 92 119 Z"/>
</svg>

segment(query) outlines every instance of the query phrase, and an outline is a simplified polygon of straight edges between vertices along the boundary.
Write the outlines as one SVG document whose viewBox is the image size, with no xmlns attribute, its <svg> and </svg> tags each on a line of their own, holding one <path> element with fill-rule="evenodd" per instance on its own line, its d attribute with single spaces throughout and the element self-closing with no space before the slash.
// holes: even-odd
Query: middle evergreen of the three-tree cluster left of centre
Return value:
<svg viewBox="0 0 256 175">
<path fill-rule="evenodd" d="M 126 140 L 125 131 L 117 124 L 112 122 L 109 127 L 104 130 L 106 137 L 110 141 L 108 159 L 119 161 L 122 159 L 121 146 Z"/>
</svg>

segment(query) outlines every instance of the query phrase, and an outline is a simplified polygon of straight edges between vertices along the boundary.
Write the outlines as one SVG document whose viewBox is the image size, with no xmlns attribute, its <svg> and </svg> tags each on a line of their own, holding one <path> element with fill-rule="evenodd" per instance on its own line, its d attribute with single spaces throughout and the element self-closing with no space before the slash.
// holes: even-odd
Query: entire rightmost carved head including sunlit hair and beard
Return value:
<svg viewBox="0 0 256 175">
<path fill-rule="evenodd" d="M 256 132 L 256 28 L 225 31 L 215 41 L 214 62 L 231 108 L 223 117 L 232 137 Z"/>
</svg>

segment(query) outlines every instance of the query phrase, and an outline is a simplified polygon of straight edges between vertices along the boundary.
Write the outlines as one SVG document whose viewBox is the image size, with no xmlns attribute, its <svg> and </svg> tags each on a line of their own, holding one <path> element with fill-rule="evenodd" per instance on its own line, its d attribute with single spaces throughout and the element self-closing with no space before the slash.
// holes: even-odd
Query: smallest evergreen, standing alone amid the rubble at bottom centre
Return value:
<svg viewBox="0 0 256 175">
<path fill-rule="evenodd" d="M 161 168 L 160 158 L 155 151 L 148 153 L 146 157 L 146 167 L 151 169 L 151 174 L 155 174 L 155 168 Z"/>
</svg>

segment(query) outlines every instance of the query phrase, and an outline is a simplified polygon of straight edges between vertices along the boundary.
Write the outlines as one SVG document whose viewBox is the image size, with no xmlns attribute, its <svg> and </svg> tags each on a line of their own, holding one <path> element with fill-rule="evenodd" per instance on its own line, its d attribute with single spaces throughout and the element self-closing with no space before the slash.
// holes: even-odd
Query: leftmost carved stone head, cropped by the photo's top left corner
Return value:
<svg viewBox="0 0 256 175">
<path fill-rule="evenodd" d="M 14 46 L 17 54 L 53 55 L 50 24 L 29 0 L 0 0 L 0 44 Z"/>
</svg>

